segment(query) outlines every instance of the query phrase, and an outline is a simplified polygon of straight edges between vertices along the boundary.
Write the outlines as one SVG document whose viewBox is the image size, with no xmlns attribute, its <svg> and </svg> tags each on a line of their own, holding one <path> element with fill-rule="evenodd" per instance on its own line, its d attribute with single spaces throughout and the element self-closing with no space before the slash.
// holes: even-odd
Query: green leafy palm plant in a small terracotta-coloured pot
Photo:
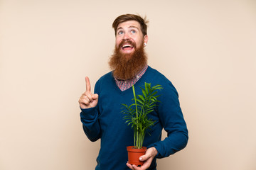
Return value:
<svg viewBox="0 0 256 170">
<path fill-rule="evenodd" d="M 144 137 L 146 130 L 149 130 L 152 125 L 154 125 L 154 120 L 148 118 L 148 114 L 154 111 L 156 104 L 159 102 L 157 98 L 157 90 L 163 89 L 161 85 L 156 85 L 151 87 L 151 84 L 144 84 L 144 89 L 142 89 L 142 95 L 136 95 L 134 86 L 132 86 L 132 91 L 134 98 L 132 98 L 132 103 L 130 106 L 127 104 L 122 104 L 122 113 L 124 113 L 125 123 L 132 125 L 134 130 L 134 146 L 127 147 L 128 152 L 128 162 L 129 164 L 135 164 L 137 166 L 142 165 L 144 162 L 139 161 L 139 157 L 144 155 L 146 152 L 146 147 L 143 147 Z"/>
</svg>

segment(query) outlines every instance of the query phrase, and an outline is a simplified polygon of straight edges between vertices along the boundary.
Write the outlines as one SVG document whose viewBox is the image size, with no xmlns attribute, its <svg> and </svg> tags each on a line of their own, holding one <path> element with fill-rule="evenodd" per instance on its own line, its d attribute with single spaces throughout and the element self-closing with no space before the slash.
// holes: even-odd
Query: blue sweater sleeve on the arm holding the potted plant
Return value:
<svg viewBox="0 0 256 170">
<path fill-rule="evenodd" d="M 159 119 L 167 132 L 167 137 L 150 147 L 155 147 L 158 151 L 156 158 L 163 158 L 186 147 L 188 130 L 178 101 L 178 93 L 170 81 L 162 89 L 159 101 Z"/>
</svg>

